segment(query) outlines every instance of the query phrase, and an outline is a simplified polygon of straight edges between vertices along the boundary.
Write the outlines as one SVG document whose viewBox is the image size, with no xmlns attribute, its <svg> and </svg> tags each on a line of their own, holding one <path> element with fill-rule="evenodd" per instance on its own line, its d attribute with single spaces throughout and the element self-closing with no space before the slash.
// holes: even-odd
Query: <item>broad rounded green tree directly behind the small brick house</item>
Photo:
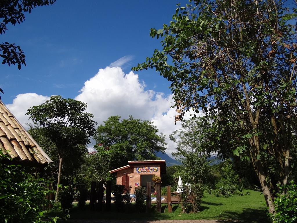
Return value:
<svg viewBox="0 0 297 223">
<path fill-rule="evenodd" d="M 164 153 L 165 136 L 157 134 L 152 122 L 132 116 L 120 119 L 120 116 L 109 117 L 104 125 L 99 125 L 94 137 L 96 156 L 107 162 L 109 170 L 126 165 L 129 160 L 154 160 L 156 152 Z"/>
</svg>

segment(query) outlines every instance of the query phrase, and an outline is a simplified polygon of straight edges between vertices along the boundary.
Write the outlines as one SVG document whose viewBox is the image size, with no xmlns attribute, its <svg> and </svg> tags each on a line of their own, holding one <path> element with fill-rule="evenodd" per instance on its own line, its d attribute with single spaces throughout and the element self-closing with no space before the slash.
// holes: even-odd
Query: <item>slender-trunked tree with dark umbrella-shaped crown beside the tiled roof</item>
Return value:
<svg viewBox="0 0 297 223">
<path fill-rule="evenodd" d="M 71 159 L 72 153 L 81 150 L 95 134 L 93 115 L 85 112 L 86 103 L 71 98 L 52 96 L 42 105 L 28 109 L 27 115 L 45 128 L 46 136 L 56 145 L 59 156 L 57 184 L 61 181 L 63 159 Z M 86 147 L 84 147 L 86 148 Z M 56 200 L 59 187 L 57 187 Z"/>
</svg>

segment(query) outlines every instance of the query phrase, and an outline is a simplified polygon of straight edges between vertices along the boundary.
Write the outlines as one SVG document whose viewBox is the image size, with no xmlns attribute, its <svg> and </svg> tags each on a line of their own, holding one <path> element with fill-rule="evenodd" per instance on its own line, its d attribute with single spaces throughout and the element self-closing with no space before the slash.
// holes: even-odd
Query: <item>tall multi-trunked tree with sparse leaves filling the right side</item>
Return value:
<svg viewBox="0 0 297 223">
<path fill-rule="evenodd" d="M 155 68 L 171 81 L 176 120 L 183 109 L 214 120 L 222 152 L 249 159 L 274 213 L 276 183 L 289 177 L 296 134 L 296 4 L 285 1 L 196 0 L 176 9 L 163 29 L 163 51 L 134 70 Z M 172 60 L 169 60 L 169 57 Z M 219 147 L 218 147 L 219 148 Z M 268 166 L 275 164 L 274 182 Z M 284 191 L 285 193 L 285 191 Z"/>
</svg>

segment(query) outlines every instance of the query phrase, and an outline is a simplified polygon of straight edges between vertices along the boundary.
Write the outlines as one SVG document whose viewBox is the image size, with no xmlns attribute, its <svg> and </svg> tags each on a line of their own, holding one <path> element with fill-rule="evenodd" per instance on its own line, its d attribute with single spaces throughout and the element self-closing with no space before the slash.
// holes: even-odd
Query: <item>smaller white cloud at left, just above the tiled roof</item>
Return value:
<svg viewBox="0 0 297 223">
<path fill-rule="evenodd" d="M 17 120 L 27 128 L 26 124 L 31 123 L 29 116 L 26 115 L 27 110 L 35 105 L 40 105 L 48 100 L 49 97 L 37 95 L 36 93 L 19 94 L 13 99 L 12 104 L 7 104 L 7 108 L 17 118 Z"/>
</svg>

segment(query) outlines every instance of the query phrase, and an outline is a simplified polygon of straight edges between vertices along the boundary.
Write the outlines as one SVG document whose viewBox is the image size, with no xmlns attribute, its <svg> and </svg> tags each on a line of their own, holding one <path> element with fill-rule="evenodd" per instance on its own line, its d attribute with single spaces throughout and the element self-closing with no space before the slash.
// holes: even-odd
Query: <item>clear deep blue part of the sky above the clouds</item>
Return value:
<svg viewBox="0 0 297 223">
<path fill-rule="evenodd" d="M 184 1 L 185 4 L 187 1 Z M 129 71 L 155 48 L 159 40 L 150 28 L 169 23 L 178 1 L 69 1 L 37 7 L 23 23 L 9 26 L 1 41 L 20 45 L 27 67 L 0 66 L 2 100 L 19 93 L 74 97 L 84 81 L 123 56 Z M 138 72 L 147 89 L 170 93 L 169 83 L 154 70 Z"/>
</svg>

